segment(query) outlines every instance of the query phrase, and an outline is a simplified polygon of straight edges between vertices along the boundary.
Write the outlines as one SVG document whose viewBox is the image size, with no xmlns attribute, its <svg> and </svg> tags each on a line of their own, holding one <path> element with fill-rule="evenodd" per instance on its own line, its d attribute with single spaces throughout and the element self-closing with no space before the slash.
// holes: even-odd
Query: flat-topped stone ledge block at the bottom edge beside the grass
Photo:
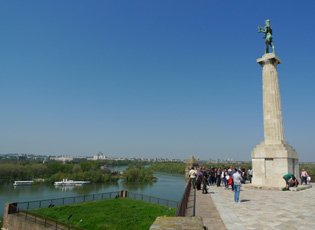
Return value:
<svg viewBox="0 0 315 230">
<path fill-rule="evenodd" d="M 150 230 L 203 230 L 201 217 L 157 217 Z"/>
</svg>

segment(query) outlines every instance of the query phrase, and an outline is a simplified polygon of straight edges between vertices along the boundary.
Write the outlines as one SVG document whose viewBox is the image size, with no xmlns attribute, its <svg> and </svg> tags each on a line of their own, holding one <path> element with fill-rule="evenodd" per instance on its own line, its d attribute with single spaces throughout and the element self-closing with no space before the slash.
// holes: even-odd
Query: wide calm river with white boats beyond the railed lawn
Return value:
<svg viewBox="0 0 315 230">
<path fill-rule="evenodd" d="M 185 190 L 184 176 L 166 173 L 155 173 L 155 176 L 158 178 L 157 182 L 145 185 L 125 185 L 122 181 L 115 184 L 86 184 L 75 187 L 55 187 L 47 184 L 14 187 L 12 183 L 0 184 L 0 217 L 3 215 L 4 204 L 8 202 L 45 200 L 119 190 L 180 201 Z"/>
</svg>

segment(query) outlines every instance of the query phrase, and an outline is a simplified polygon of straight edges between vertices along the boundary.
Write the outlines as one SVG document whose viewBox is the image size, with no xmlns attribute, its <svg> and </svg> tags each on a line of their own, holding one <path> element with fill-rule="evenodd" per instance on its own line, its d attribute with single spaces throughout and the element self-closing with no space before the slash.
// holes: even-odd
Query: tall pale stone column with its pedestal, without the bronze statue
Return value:
<svg viewBox="0 0 315 230">
<path fill-rule="evenodd" d="M 256 187 L 281 188 L 283 175 L 299 176 L 298 154 L 284 140 L 277 65 L 280 59 L 267 53 L 257 62 L 262 66 L 264 140 L 252 151 L 253 180 Z"/>
</svg>

